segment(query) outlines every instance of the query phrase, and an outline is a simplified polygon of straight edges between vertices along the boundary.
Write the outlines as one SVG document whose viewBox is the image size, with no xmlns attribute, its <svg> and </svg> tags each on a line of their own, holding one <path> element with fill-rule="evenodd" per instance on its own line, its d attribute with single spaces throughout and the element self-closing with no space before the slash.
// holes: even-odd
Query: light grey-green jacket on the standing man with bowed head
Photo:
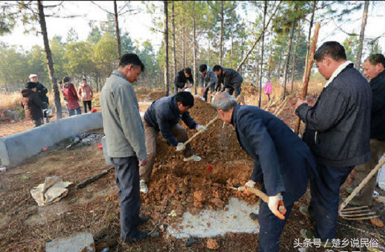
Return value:
<svg viewBox="0 0 385 252">
<path fill-rule="evenodd" d="M 100 93 L 101 116 L 110 158 L 147 158 L 145 129 L 140 119 L 135 90 L 124 75 L 115 70 Z"/>
</svg>

